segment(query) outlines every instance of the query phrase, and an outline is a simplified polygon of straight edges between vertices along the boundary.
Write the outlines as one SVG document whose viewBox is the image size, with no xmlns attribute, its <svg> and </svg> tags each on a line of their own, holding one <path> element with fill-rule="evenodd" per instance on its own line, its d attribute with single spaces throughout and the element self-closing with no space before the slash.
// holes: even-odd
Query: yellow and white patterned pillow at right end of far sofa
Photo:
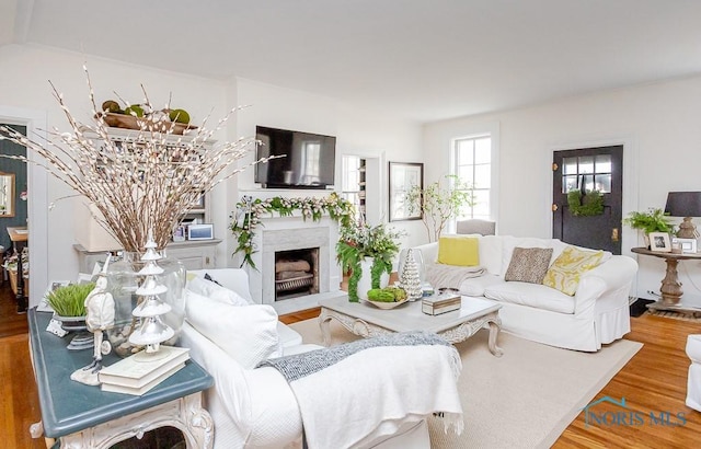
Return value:
<svg viewBox="0 0 701 449">
<path fill-rule="evenodd" d="M 567 246 L 545 273 L 543 285 L 574 296 L 582 274 L 597 267 L 602 260 L 604 251 L 586 251 Z"/>
</svg>

